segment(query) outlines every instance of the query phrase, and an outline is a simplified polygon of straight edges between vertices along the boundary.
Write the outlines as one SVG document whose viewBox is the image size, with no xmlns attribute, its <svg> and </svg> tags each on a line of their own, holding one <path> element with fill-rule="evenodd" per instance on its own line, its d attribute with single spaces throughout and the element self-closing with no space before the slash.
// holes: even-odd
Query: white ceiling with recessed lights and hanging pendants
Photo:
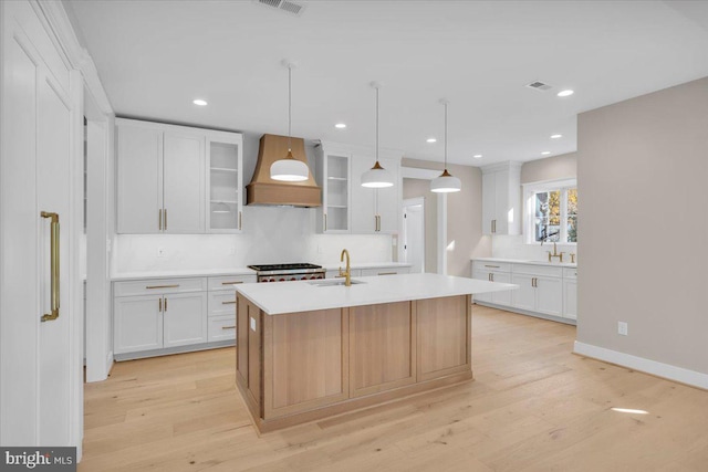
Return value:
<svg viewBox="0 0 708 472">
<path fill-rule="evenodd" d="M 446 97 L 448 159 L 473 166 L 573 151 L 577 113 L 708 75 L 708 1 L 64 3 L 119 116 L 287 134 L 290 59 L 294 136 L 373 145 L 381 81 L 382 147 L 441 160 Z"/>
</svg>

